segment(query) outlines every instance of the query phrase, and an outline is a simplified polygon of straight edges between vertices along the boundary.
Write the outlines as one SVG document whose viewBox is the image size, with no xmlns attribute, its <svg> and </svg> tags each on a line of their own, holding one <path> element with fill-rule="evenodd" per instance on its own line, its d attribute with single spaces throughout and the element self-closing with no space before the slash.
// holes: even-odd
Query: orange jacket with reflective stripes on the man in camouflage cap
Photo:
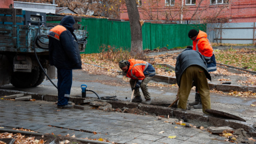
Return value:
<svg viewBox="0 0 256 144">
<path fill-rule="evenodd" d="M 129 59 L 129 69 L 127 75 L 131 79 L 138 79 L 136 87 L 140 88 L 140 84 L 146 76 L 154 76 L 156 71 L 154 67 L 143 60 Z"/>
</svg>

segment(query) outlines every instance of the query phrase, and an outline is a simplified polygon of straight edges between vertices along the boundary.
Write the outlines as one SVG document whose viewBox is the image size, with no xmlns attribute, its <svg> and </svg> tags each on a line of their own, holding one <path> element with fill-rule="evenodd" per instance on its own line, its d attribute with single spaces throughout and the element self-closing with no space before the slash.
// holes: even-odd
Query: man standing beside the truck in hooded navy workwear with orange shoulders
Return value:
<svg viewBox="0 0 256 144">
<path fill-rule="evenodd" d="M 49 61 L 55 65 L 58 73 L 57 108 L 73 108 L 70 99 L 72 70 L 81 69 L 81 56 L 73 25 L 75 20 L 65 16 L 61 23 L 49 31 Z"/>
</svg>

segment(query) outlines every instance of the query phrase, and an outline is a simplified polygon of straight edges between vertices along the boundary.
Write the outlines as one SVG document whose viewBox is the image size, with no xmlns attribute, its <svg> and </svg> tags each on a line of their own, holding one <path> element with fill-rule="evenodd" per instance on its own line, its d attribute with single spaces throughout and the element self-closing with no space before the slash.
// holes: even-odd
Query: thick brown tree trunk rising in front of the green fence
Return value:
<svg viewBox="0 0 256 144">
<path fill-rule="evenodd" d="M 131 55 L 135 56 L 143 51 L 142 29 L 140 25 L 140 14 L 136 0 L 125 0 L 131 28 Z"/>
</svg>

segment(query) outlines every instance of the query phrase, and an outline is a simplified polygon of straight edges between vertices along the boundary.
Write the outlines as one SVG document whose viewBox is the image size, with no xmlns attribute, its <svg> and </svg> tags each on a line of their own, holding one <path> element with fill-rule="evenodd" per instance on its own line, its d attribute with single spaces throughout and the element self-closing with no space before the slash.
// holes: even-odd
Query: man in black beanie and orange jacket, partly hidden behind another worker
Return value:
<svg viewBox="0 0 256 144">
<path fill-rule="evenodd" d="M 189 38 L 193 41 L 193 47 L 188 46 L 189 48 L 192 48 L 195 51 L 200 52 L 205 61 L 207 62 L 207 70 L 208 72 L 216 71 L 216 60 L 215 55 L 213 53 L 212 45 L 207 39 L 207 34 L 204 31 L 197 31 L 195 29 L 192 29 L 189 31 Z M 187 47 L 187 48 L 188 48 Z M 195 102 L 190 102 L 189 105 L 192 105 L 195 109 L 201 109 L 202 108 L 202 102 L 201 97 L 198 93 L 198 89 L 195 89 Z"/>
</svg>

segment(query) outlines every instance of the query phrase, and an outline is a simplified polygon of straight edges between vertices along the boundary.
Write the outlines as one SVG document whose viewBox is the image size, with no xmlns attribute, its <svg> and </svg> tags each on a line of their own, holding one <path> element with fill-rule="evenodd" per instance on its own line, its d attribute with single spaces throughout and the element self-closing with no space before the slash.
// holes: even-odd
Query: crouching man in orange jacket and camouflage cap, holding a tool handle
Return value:
<svg viewBox="0 0 256 144">
<path fill-rule="evenodd" d="M 145 104 L 150 104 L 151 97 L 150 93 L 148 93 L 147 85 L 148 82 L 156 74 L 154 67 L 148 62 L 135 59 L 129 59 L 128 61 L 121 60 L 119 62 L 119 67 L 122 69 L 123 73 L 125 73 L 127 77 L 131 78 L 130 85 L 131 89 L 134 90 L 135 96 L 132 102 L 142 102 L 139 90 L 139 88 L 141 88 L 142 93 L 145 97 Z"/>
</svg>

